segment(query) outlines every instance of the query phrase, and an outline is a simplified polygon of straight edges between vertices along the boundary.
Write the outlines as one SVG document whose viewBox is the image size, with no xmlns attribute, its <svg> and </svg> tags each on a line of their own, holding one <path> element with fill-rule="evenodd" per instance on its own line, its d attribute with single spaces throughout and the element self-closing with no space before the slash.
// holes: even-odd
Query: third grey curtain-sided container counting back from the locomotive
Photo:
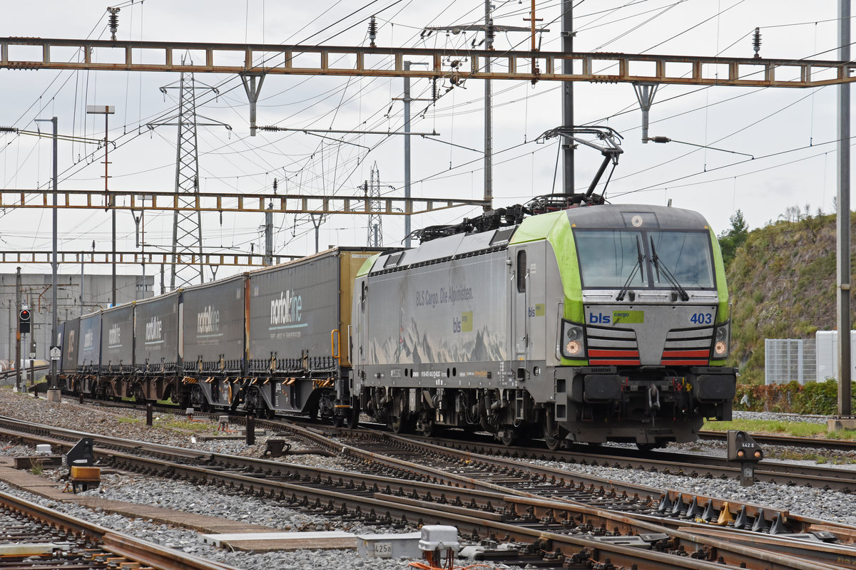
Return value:
<svg viewBox="0 0 856 570">
<path fill-rule="evenodd" d="M 175 373 L 181 366 L 181 292 L 134 305 L 134 369 L 137 373 Z"/>
</svg>

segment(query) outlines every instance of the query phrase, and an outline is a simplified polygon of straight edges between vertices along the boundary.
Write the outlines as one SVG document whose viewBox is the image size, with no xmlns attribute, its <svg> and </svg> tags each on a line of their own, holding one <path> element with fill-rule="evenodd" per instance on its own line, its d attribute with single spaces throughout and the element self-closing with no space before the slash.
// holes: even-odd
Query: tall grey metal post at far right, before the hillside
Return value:
<svg viewBox="0 0 856 570">
<path fill-rule="evenodd" d="M 850 0 L 838 2 L 838 58 L 850 61 Z M 853 413 L 850 390 L 850 84 L 838 85 L 838 414 Z"/>
</svg>

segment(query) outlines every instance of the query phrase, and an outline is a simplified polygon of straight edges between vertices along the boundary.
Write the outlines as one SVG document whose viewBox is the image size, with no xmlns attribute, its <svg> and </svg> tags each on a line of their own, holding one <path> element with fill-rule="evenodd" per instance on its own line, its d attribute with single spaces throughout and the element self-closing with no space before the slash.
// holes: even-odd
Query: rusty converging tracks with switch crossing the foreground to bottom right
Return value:
<svg viewBox="0 0 856 570">
<path fill-rule="evenodd" d="M 70 447 L 73 440 L 82 435 L 11 420 L 3 420 L 3 431 L 15 432 L 19 438 L 30 442 L 48 441 L 62 447 Z M 490 480 L 484 480 L 473 477 L 473 473 L 459 473 L 461 470 L 452 468 L 454 466 L 444 466 L 448 472 L 437 469 L 436 459 L 431 460 L 435 467 L 420 467 L 413 461 L 366 450 L 365 445 L 343 447 L 342 441 L 305 428 L 294 427 L 292 433 L 314 445 L 338 450 L 351 464 L 361 466 L 364 473 L 299 467 L 280 461 L 218 455 L 104 436 L 95 438 L 97 455 L 112 467 L 223 485 L 332 517 L 358 517 L 366 522 L 389 525 L 452 524 L 471 540 L 491 536 L 504 538 L 519 544 L 524 555 L 540 557 L 548 564 L 556 562 L 556 567 L 566 562 L 585 563 L 594 556 L 603 564 L 608 564 L 606 559 L 609 559 L 609 564 L 623 567 L 636 564 L 701 568 L 720 561 L 734 567 L 744 563 L 752 568 L 808 570 L 835 567 L 834 561 L 848 552 L 856 555 L 856 550 L 852 551 L 850 546 L 819 540 L 817 529 L 811 530 L 811 525 L 819 525 L 821 521 L 795 522 L 794 517 L 779 513 L 772 524 L 787 524 L 788 531 L 800 532 L 762 535 L 747 530 L 737 533 L 769 539 L 771 551 L 787 546 L 794 552 L 789 556 L 773 555 L 771 551 L 699 532 L 708 532 L 715 526 L 695 520 L 693 513 L 687 516 L 678 512 L 673 516 L 671 508 L 665 507 L 675 504 L 670 502 L 668 495 L 657 501 L 650 496 L 619 493 L 609 485 L 603 490 L 594 485 L 590 490 L 577 489 L 579 485 L 569 481 L 550 480 L 544 478 L 543 473 L 521 473 L 519 469 L 514 472 L 508 466 L 502 467 L 504 475 L 497 476 L 495 468 L 486 466 L 486 460 L 470 456 L 471 465 L 485 463 L 476 468 L 476 471 L 490 473 Z M 411 459 L 414 453 L 424 455 L 411 450 Z M 378 474 L 378 470 L 387 474 Z M 521 489 L 517 485 L 520 482 L 528 488 Z M 578 491 L 582 491 L 579 497 L 573 497 Z M 578 500 L 586 494 L 599 498 L 588 504 Z M 764 521 L 758 510 L 746 510 L 747 516 L 749 512 L 754 513 L 756 520 L 761 517 Z M 698 515 L 703 521 L 704 514 Z M 846 537 L 853 529 L 840 527 L 839 531 Z M 824 562 L 807 563 L 802 558 L 809 555 L 820 556 Z M 570 567 L 574 567 L 573 564 Z"/>
</svg>

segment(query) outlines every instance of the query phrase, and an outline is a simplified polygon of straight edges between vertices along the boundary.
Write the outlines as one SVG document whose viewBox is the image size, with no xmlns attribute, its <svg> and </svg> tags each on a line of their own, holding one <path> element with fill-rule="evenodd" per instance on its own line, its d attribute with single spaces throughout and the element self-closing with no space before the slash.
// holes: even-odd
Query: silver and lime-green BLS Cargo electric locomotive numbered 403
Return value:
<svg viewBox="0 0 856 570">
<path fill-rule="evenodd" d="M 511 217 L 366 261 L 352 418 L 551 448 L 653 448 L 730 419 L 728 290 L 700 214 L 581 202 Z"/>
</svg>

